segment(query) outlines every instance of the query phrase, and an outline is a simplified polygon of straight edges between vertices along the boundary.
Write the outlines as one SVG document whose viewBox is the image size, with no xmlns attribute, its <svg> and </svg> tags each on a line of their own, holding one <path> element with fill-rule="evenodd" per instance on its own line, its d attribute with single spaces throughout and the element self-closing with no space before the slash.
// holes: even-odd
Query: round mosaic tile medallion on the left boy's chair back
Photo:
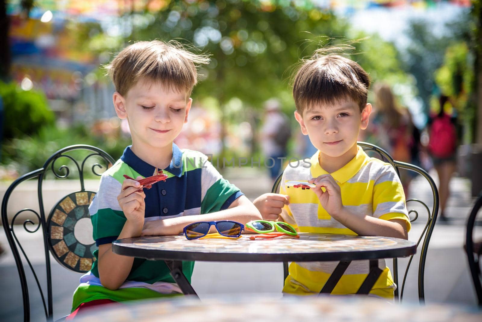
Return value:
<svg viewBox="0 0 482 322">
<path fill-rule="evenodd" d="M 63 266 L 76 272 L 87 272 L 97 250 L 92 238 L 89 204 L 95 192 L 73 192 L 59 201 L 47 220 L 51 253 Z"/>
</svg>

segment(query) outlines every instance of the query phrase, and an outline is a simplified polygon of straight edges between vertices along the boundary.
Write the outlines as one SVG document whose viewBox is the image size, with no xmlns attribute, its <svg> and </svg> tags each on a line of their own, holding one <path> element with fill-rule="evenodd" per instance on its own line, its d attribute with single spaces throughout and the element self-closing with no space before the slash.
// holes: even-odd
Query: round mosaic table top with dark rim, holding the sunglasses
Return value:
<svg viewBox="0 0 482 322">
<path fill-rule="evenodd" d="M 315 261 L 403 257 L 415 254 L 414 241 L 376 236 L 300 233 L 300 238 L 250 240 L 200 239 L 184 236 L 146 236 L 113 242 L 121 255 L 148 259 L 205 261 Z"/>
</svg>

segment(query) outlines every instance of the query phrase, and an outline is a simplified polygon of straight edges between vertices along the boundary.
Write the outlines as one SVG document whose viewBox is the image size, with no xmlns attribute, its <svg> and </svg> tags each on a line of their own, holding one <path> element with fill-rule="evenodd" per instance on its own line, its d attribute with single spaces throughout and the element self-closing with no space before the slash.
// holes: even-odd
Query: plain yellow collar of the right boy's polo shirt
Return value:
<svg viewBox="0 0 482 322">
<path fill-rule="evenodd" d="M 347 164 L 345 164 L 340 169 L 336 170 L 335 172 L 331 173 L 333 178 L 339 182 L 344 183 L 347 182 L 351 177 L 357 174 L 358 171 L 362 168 L 363 163 L 365 160 L 368 159 L 368 155 L 363 151 L 363 148 L 357 146 L 358 151 L 356 156 L 351 159 Z M 318 161 L 318 156 L 320 155 L 320 151 L 316 152 L 310 159 L 311 162 L 311 175 L 316 178 L 322 174 L 328 174 L 323 168 L 321 168 L 320 162 Z"/>
</svg>

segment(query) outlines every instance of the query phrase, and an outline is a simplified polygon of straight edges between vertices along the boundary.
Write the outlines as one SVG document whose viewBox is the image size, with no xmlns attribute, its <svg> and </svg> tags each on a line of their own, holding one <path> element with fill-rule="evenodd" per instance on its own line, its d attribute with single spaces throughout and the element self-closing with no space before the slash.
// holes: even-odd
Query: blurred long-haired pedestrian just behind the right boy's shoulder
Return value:
<svg viewBox="0 0 482 322">
<path fill-rule="evenodd" d="M 420 131 L 412 121 L 410 111 L 397 104 L 390 86 L 375 85 L 374 112 L 366 140 L 385 149 L 394 160 L 419 165 Z M 405 196 L 415 173 L 400 174 Z"/>
</svg>

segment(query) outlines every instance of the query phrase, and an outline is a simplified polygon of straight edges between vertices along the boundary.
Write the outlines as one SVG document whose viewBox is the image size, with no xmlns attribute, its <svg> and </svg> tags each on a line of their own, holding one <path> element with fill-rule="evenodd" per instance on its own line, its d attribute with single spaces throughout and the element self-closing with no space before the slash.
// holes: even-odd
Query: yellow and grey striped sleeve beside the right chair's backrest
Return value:
<svg viewBox="0 0 482 322">
<path fill-rule="evenodd" d="M 410 230 L 411 224 L 405 205 L 402 182 L 395 169 L 389 164 L 385 164 L 376 174 L 373 187 L 373 209 L 375 218 L 405 220 L 407 231 Z"/>
</svg>

